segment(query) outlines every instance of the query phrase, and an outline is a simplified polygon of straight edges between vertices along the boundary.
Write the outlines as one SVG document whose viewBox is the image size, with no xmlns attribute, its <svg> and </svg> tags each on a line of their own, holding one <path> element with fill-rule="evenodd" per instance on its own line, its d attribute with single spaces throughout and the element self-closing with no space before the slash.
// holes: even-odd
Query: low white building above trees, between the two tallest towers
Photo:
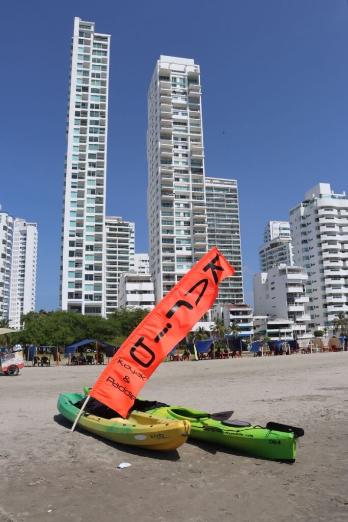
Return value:
<svg viewBox="0 0 348 522">
<path fill-rule="evenodd" d="M 120 308 L 154 308 L 154 290 L 150 274 L 121 274 L 118 303 Z"/>
</svg>

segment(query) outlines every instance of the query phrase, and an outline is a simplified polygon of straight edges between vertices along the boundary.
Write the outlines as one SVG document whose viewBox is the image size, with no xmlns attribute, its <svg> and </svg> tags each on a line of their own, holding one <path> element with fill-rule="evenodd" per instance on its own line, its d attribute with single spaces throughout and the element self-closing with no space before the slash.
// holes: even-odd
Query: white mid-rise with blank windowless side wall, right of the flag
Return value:
<svg viewBox="0 0 348 522">
<path fill-rule="evenodd" d="M 305 269 L 279 265 L 254 276 L 255 315 L 269 319 L 285 318 L 294 324 L 297 339 L 310 337 L 306 333 L 309 316 L 305 307 L 309 302 L 306 294 L 308 276 Z"/>
</svg>

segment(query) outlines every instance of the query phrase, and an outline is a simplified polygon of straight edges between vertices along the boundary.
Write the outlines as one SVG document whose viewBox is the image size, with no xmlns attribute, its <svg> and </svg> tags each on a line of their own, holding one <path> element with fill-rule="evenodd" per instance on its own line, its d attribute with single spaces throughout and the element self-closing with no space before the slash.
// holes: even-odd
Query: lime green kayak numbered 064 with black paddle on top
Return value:
<svg viewBox="0 0 348 522">
<path fill-rule="evenodd" d="M 191 438 L 272 460 L 294 462 L 296 458 L 298 439 L 293 433 L 268 430 L 261 426 L 234 428 L 209 418 L 205 412 L 175 406 L 154 408 L 147 412 L 165 419 L 189 420 Z"/>
</svg>

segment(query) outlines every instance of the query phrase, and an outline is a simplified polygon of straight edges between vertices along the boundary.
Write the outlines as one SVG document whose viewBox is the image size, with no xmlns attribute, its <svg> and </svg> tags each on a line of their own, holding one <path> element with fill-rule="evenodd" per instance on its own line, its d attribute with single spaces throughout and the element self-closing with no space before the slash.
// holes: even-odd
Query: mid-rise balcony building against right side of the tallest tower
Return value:
<svg viewBox="0 0 348 522">
<path fill-rule="evenodd" d="M 134 271 L 133 222 L 119 216 L 106 216 L 105 235 L 105 302 L 106 316 L 112 314 L 118 303 L 118 284 L 124 272 Z"/>
</svg>

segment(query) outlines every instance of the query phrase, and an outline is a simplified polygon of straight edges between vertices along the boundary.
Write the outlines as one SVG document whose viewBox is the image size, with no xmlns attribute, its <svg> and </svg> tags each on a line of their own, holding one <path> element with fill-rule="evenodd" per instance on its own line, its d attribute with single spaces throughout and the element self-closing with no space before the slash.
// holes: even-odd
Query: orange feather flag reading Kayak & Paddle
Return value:
<svg viewBox="0 0 348 522">
<path fill-rule="evenodd" d="M 89 395 L 123 417 L 167 353 L 211 308 L 234 268 L 215 246 L 164 296 L 125 340 Z"/>
</svg>

